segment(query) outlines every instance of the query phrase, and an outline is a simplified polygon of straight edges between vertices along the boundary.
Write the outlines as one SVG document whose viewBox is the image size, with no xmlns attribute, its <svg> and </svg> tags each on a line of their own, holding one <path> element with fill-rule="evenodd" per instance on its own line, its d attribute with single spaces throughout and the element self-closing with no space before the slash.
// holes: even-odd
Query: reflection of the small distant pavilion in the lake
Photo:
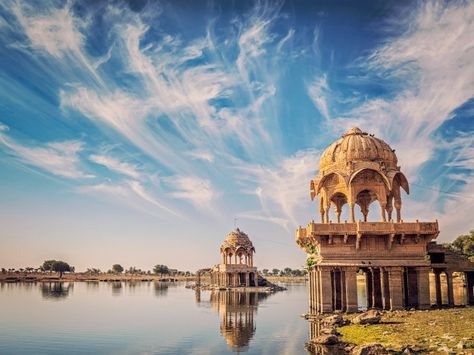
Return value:
<svg viewBox="0 0 474 355">
<path fill-rule="evenodd" d="M 247 351 L 255 335 L 255 315 L 259 302 L 269 296 L 267 293 L 212 291 L 209 302 L 219 314 L 220 333 L 233 351 Z M 196 302 L 201 294 L 196 292 Z"/>
</svg>

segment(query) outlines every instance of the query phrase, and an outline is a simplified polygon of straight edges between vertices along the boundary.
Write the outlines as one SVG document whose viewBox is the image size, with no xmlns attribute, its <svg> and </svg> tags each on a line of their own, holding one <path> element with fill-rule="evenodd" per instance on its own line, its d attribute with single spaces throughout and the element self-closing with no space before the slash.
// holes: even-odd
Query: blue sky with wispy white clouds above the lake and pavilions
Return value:
<svg viewBox="0 0 474 355">
<path fill-rule="evenodd" d="M 193 271 L 238 226 L 258 267 L 301 267 L 309 181 L 354 126 L 396 150 L 405 221 L 467 233 L 473 18 L 469 1 L 2 1 L 0 266 Z"/>
</svg>

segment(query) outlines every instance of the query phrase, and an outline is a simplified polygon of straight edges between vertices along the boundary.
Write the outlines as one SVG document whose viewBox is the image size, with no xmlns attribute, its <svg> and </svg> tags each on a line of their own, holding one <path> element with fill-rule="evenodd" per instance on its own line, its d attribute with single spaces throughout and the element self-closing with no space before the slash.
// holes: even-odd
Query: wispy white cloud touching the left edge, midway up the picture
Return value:
<svg viewBox="0 0 474 355">
<path fill-rule="evenodd" d="M 84 173 L 81 169 L 79 152 L 82 150 L 82 142 L 53 142 L 28 147 L 1 133 L 6 131 L 7 126 L 2 125 L 1 128 L 0 143 L 9 148 L 23 163 L 65 178 L 83 179 L 93 177 Z"/>
</svg>

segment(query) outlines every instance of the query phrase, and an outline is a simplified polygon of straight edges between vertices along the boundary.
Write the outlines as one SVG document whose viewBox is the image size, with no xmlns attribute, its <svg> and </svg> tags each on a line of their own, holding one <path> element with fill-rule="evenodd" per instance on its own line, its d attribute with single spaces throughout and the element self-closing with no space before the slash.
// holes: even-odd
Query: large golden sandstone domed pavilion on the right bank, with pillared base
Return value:
<svg viewBox="0 0 474 355">
<path fill-rule="evenodd" d="M 409 193 L 395 150 L 359 128 L 322 154 L 319 173 L 310 182 L 311 199 L 319 196 L 320 223 L 296 231 L 296 243 L 308 255 L 311 313 L 356 312 L 359 276 L 365 279 L 367 308 L 453 305 L 454 273 L 467 289 L 464 303 L 474 304 L 474 263 L 432 242 L 439 234 L 437 221 L 403 221 L 402 189 Z M 379 222 L 369 221 L 375 201 Z M 349 221 L 342 222 L 345 205 Z"/>
</svg>

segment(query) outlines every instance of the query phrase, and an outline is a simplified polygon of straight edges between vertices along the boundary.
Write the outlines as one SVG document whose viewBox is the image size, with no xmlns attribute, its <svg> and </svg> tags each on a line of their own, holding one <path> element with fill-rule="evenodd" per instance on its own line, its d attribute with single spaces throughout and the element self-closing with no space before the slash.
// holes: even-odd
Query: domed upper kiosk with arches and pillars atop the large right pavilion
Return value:
<svg viewBox="0 0 474 355">
<path fill-rule="evenodd" d="M 329 223 L 333 206 L 340 223 L 342 207 L 349 205 L 351 222 L 357 204 L 367 221 L 369 205 L 378 201 L 381 220 L 392 219 L 395 207 L 401 220 L 400 187 L 409 193 L 408 181 L 397 165 L 395 150 L 383 140 L 355 127 L 331 144 L 319 161 L 319 173 L 311 180 L 311 198 L 320 197 L 321 222 Z"/>
</svg>

